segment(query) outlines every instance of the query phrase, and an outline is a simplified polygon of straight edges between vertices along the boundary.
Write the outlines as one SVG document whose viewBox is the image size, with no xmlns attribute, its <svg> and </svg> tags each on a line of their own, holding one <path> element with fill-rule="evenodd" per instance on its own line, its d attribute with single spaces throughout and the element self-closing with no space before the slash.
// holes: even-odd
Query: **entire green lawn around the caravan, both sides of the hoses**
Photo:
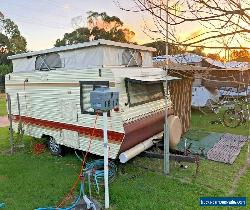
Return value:
<svg viewBox="0 0 250 210">
<path fill-rule="evenodd" d="M 225 132 L 221 125 L 206 123 L 210 116 L 200 115 L 198 112 L 192 115 L 193 130 Z M 198 119 L 200 121 L 196 122 Z M 247 134 L 247 129 L 227 129 L 226 132 Z M 53 157 L 48 152 L 34 155 L 29 137 L 25 137 L 25 144 L 25 149 L 13 156 L 0 153 L 0 203 L 5 202 L 6 209 L 10 210 L 55 206 L 72 186 L 80 162 L 73 154 L 63 158 Z M 8 129 L 0 128 L 0 151 L 6 149 Z M 201 196 L 229 196 L 234 177 L 245 164 L 246 157 L 247 145 L 233 165 L 201 160 L 196 178 L 194 164 L 187 164 L 188 168 L 182 169 L 177 163 L 171 162 L 170 175 L 164 176 L 161 173 L 162 160 L 137 157 L 126 164 L 125 173 L 121 173 L 121 166 L 118 166 L 118 175 L 110 185 L 110 209 L 202 209 L 199 207 Z M 249 180 L 248 168 L 247 173 L 240 178 L 235 196 L 250 197 Z M 97 197 L 101 199 L 103 196 Z"/>
</svg>

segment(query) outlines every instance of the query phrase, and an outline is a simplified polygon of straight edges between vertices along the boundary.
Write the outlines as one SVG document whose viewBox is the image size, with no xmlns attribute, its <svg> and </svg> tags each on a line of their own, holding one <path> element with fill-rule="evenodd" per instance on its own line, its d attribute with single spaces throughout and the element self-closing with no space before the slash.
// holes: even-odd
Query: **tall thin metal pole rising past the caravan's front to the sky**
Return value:
<svg viewBox="0 0 250 210">
<path fill-rule="evenodd" d="M 169 127 L 168 127 L 168 0 L 166 0 L 166 88 L 165 88 L 165 125 L 164 125 L 164 174 L 169 174 Z"/>
</svg>

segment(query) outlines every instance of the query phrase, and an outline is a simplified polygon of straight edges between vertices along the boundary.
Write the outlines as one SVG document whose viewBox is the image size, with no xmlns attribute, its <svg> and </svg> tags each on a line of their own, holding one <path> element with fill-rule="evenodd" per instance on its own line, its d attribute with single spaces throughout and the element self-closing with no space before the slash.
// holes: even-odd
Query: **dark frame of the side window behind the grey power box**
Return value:
<svg viewBox="0 0 250 210">
<path fill-rule="evenodd" d="M 80 108 L 81 108 L 81 114 L 90 114 L 90 115 L 96 115 L 96 111 L 90 112 L 90 111 L 85 111 L 83 109 L 83 85 L 93 85 L 93 90 L 95 90 L 99 86 L 107 86 L 109 87 L 109 81 L 79 81 L 80 85 Z M 102 113 L 99 115 L 102 116 Z M 110 116 L 110 111 L 108 111 L 108 116 Z"/>
</svg>

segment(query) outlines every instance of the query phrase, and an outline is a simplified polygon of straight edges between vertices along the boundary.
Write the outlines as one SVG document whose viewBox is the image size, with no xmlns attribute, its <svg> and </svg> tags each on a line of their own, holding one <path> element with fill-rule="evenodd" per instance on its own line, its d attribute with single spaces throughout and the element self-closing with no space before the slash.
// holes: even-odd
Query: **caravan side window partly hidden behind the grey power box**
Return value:
<svg viewBox="0 0 250 210">
<path fill-rule="evenodd" d="M 90 105 L 90 91 L 98 87 L 109 87 L 108 81 L 80 81 L 80 105 L 82 114 L 96 114 Z"/>
</svg>

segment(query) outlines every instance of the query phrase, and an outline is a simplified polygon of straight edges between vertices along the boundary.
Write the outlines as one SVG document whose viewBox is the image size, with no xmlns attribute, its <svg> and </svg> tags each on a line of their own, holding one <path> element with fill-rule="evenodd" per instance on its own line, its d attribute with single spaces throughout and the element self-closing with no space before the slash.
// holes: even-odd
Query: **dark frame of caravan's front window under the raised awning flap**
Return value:
<svg viewBox="0 0 250 210">
<path fill-rule="evenodd" d="M 163 81 L 161 81 L 161 80 L 158 80 L 158 81 L 141 81 L 141 80 L 130 79 L 130 78 L 126 77 L 124 79 L 124 81 L 125 81 L 125 88 L 126 88 L 126 93 L 127 93 L 127 97 L 128 97 L 128 101 L 125 104 L 126 106 L 129 105 L 129 107 L 134 107 L 134 106 L 146 104 L 146 103 L 149 103 L 149 102 L 152 102 L 152 101 L 157 101 L 157 100 L 164 99 L 165 91 L 164 91 Z M 148 85 L 150 85 L 150 84 L 160 84 L 161 85 L 162 97 L 158 97 L 158 98 L 155 98 L 155 99 L 149 99 L 149 100 L 146 100 L 146 101 L 140 101 L 140 102 L 137 102 L 137 103 L 131 103 L 131 100 L 130 100 L 131 93 L 129 91 L 129 83 L 131 83 L 131 82 L 132 83 L 137 83 L 137 84 L 148 84 Z"/>
</svg>

